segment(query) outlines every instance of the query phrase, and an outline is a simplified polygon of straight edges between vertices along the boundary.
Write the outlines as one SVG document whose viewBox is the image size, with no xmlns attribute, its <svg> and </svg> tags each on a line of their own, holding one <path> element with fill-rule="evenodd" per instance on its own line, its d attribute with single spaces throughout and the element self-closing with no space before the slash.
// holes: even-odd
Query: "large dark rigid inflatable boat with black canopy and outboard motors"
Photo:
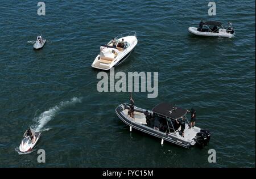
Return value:
<svg viewBox="0 0 256 179">
<path fill-rule="evenodd" d="M 146 110 L 134 106 L 134 118 L 129 116 L 129 104 L 121 104 L 115 109 L 115 113 L 131 129 L 137 129 L 158 137 L 161 144 L 166 140 L 185 148 L 195 146 L 206 146 L 210 141 L 210 131 L 203 130 L 200 127 L 191 127 L 186 114 L 187 109 L 178 108 L 169 103 L 156 105 L 152 110 Z M 183 126 L 178 121 L 184 120 Z M 182 131 L 184 137 L 182 137 Z"/>
</svg>

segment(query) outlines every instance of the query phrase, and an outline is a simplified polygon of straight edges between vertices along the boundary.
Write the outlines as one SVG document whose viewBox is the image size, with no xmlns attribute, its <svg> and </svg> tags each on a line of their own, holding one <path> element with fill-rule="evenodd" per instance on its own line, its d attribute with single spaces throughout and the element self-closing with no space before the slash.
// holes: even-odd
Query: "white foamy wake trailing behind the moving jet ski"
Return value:
<svg viewBox="0 0 256 179">
<path fill-rule="evenodd" d="M 32 126 L 31 128 L 34 129 L 36 132 L 42 132 L 42 131 L 48 131 L 50 128 L 43 129 L 43 127 L 52 120 L 52 118 L 63 108 L 73 105 L 76 103 L 81 103 L 81 98 L 73 97 L 71 100 L 68 101 L 61 101 L 60 104 L 54 106 L 53 108 L 50 108 L 49 110 L 46 110 L 42 114 L 40 114 L 38 117 L 35 117 L 36 124 Z"/>
</svg>

